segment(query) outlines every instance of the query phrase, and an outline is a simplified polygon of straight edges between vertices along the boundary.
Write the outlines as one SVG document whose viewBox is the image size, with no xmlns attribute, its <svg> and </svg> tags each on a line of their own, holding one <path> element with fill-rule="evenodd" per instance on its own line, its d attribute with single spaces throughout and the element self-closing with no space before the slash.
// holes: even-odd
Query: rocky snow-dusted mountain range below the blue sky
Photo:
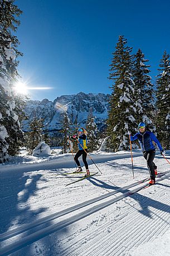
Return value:
<svg viewBox="0 0 170 256">
<path fill-rule="evenodd" d="M 27 101 L 25 107 L 28 120 L 23 122 L 23 130 L 27 131 L 29 122 L 34 117 L 43 118 L 44 124 L 49 132 L 59 131 L 61 129 L 61 115 L 66 111 L 70 121 L 85 127 L 90 110 L 93 110 L 96 125 L 101 131 L 108 117 L 109 94 L 83 92 L 57 97 L 54 102 L 43 99 L 42 101 Z"/>
</svg>

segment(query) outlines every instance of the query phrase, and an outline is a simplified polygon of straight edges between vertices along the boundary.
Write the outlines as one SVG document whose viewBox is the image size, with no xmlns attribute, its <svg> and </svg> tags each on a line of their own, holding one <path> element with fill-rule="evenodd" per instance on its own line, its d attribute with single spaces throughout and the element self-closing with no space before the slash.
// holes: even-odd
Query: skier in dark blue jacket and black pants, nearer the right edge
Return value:
<svg viewBox="0 0 170 256">
<path fill-rule="evenodd" d="M 150 173 L 149 185 L 152 185 L 156 183 L 157 175 L 157 166 L 153 162 L 156 155 L 156 149 L 152 141 L 157 144 L 159 150 L 161 151 L 161 155 L 164 155 L 165 151 L 162 149 L 159 140 L 153 134 L 153 132 L 146 130 L 144 122 L 140 122 L 140 124 L 138 125 L 138 129 L 139 132 L 137 132 L 137 134 L 135 134 L 134 136 L 130 135 L 130 132 L 128 132 L 128 134 L 130 135 L 130 140 L 139 140 L 140 148 L 143 151 L 143 157 L 147 160 L 147 166 Z"/>
</svg>

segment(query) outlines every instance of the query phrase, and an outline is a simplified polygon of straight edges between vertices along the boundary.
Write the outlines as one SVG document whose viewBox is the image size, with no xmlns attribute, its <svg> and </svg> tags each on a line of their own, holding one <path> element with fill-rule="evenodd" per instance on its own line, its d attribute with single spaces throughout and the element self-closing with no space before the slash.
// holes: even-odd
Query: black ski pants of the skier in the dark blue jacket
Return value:
<svg viewBox="0 0 170 256">
<path fill-rule="evenodd" d="M 153 163 L 155 155 L 156 155 L 156 150 L 143 151 L 143 156 L 147 160 L 150 179 L 156 178 L 156 174 L 154 173 L 154 170 L 157 169 L 157 166 Z"/>
</svg>

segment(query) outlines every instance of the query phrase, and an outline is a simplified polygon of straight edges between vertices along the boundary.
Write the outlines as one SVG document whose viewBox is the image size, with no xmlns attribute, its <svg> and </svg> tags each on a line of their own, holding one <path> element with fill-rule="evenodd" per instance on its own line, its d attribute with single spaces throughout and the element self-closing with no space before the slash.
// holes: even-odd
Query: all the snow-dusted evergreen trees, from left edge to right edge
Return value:
<svg viewBox="0 0 170 256">
<path fill-rule="evenodd" d="M 30 131 L 22 132 L 21 122 L 25 117 L 25 100 L 14 93 L 13 86 L 20 77 L 17 73 L 19 61 L 19 41 L 15 35 L 20 25 L 22 11 L 14 0 L 0 0 L 0 163 L 8 160 L 8 155 L 16 155 L 21 146 L 32 150 L 45 140 L 49 143 L 42 120 L 35 118 L 30 123 Z M 107 130 L 108 150 L 128 150 L 128 131 L 137 132 L 138 123 L 144 121 L 148 129 L 157 132 L 164 149 L 170 149 L 170 65 L 169 54 L 164 51 L 156 84 L 149 76 L 148 60 L 142 50 L 132 53 L 124 36 L 119 36 L 109 69 L 111 85 L 110 110 Z M 75 134 L 77 121 L 70 124 L 64 113 L 61 129 L 61 145 L 64 152 L 70 147 L 68 135 Z M 93 110 L 90 111 L 85 129 L 88 132 L 89 150 L 98 149 L 99 131 L 95 124 Z M 74 151 L 77 146 L 73 145 Z M 133 144 L 137 148 L 137 144 Z"/>
</svg>

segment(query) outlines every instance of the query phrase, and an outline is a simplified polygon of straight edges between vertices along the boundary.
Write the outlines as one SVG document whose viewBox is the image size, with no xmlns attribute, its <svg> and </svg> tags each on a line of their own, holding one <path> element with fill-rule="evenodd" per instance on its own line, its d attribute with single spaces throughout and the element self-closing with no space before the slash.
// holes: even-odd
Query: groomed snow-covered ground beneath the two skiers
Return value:
<svg viewBox="0 0 170 256">
<path fill-rule="evenodd" d="M 102 174 L 70 186 L 84 175 L 65 174 L 75 170 L 71 154 L 0 165 L 1 254 L 169 255 L 170 164 L 158 153 L 158 172 L 166 174 L 148 188 L 140 151 L 134 179 L 129 152 L 99 152 L 91 157 Z"/>
</svg>

